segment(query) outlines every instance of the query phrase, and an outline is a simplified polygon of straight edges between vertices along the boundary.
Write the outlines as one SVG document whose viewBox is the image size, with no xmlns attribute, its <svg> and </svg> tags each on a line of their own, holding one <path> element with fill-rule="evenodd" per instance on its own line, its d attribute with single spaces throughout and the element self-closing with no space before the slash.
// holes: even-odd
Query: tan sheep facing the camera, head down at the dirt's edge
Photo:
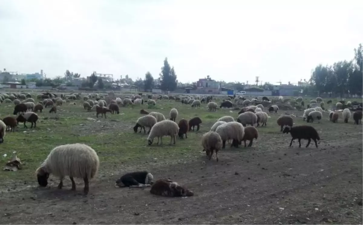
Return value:
<svg viewBox="0 0 363 225">
<path fill-rule="evenodd" d="M 213 151 L 216 152 L 216 160 L 218 161 L 218 152 L 222 148 L 221 136 L 215 131 L 209 131 L 202 136 L 203 151 L 207 154 L 209 160 L 212 159 Z"/>
</svg>

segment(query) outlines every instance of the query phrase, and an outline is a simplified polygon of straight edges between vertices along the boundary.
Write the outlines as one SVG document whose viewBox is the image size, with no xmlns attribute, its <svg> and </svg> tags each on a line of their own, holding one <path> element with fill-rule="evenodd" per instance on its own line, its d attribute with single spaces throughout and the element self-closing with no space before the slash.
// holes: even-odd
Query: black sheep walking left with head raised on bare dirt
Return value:
<svg viewBox="0 0 363 225">
<path fill-rule="evenodd" d="M 312 126 L 306 126 L 306 125 L 296 126 L 296 127 L 286 126 L 283 133 L 291 134 L 292 138 L 289 147 L 291 147 L 291 145 L 293 144 L 294 139 L 299 139 L 299 148 L 301 148 L 301 139 L 308 140 L 306 147 L 309 146 L 311 139 L 313 139 L 315 142 L 315 146 L 318 148 L 317 140 L 320 140 L 320 137 L 318 132 Z"/>
</svg>

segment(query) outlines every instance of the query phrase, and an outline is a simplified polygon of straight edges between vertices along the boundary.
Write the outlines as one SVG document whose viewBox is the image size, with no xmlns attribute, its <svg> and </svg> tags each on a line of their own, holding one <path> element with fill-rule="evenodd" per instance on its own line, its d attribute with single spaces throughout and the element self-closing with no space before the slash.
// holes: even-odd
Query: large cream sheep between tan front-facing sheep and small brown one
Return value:
<svg viewBox="0 0 363 225">
<path fill-rule="evenodd" d="M 219 125 L 216 132 L 222 139 L 222 148 L 225 148 L 225 142 L 231 139 L 233 140 L 232 146 L 238 147 L 244 136 L 244 127 L 238 122 L 228 122 Z"/>
</svg>

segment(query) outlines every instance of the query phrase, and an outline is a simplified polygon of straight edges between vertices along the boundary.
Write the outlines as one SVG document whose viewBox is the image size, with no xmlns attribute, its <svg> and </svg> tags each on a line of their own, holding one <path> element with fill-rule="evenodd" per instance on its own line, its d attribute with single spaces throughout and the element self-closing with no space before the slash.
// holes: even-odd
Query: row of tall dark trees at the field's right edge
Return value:
<svg viewBox="0 0 363 225">
<path fill-rule="evenodd" d="M 354 49 L 354 59 L 333 65 L 318 65 L 311 74 L 310 83 L 322 93 L 363 95 L 363 47 Z"/>
</svg>

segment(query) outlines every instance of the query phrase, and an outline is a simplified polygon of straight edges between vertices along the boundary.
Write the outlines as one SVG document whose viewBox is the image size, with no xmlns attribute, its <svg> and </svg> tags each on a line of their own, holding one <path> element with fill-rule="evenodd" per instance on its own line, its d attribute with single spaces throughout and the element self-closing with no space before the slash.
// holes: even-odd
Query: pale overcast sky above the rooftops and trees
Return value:
<svg viewBox="0 0 363 225">
<path fill-rule="evenodd" d="M 0 68 L 135 80 L 167 57 L 179 82 L 297 83 L 363 43 L 363 1 L 250 2 L 0 0 Z"/>
</svg>

